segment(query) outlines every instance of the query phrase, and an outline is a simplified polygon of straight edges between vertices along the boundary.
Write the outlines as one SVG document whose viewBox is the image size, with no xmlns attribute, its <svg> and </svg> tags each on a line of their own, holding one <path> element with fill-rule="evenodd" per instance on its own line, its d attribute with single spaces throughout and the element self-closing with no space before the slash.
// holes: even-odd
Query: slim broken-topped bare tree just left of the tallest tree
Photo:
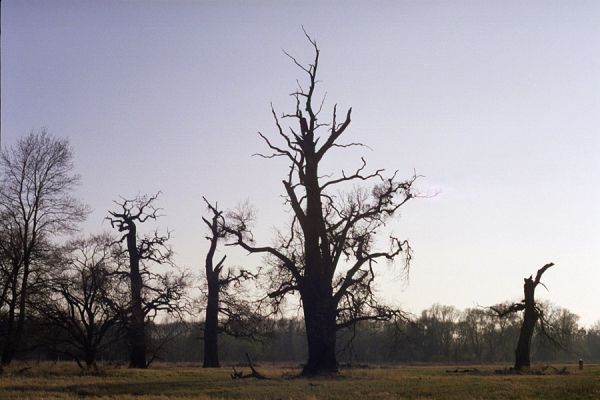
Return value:
<svg viewBox="0 0 600 400">
<path fill-rule="evenodd" d="M 207 305 L 204 321 L 204 368 L 218 368 L 219 364 L 219 333 L 226 333 L 236 337 L 254 337 L 261 333 L 261 327 L 265 317 L 260 315 L 252 302 L 243 299 L 235 293 L 243 282 L 254 280 L 256 275 L 245 269 L 234 270 L 231 268 L 223 270 L 226 255 L 216 262 L 214 261 L 219 240 L 222 240 L 227 232 L 225 230 L 225 218 L 218 205 L 211 204 L 206 198 L 204 202 L 211 212 L 210 219 L 203 217 L 202 220 L 209 230 L 206 239 L 210 242 L 205 260 L 205 275 L 207 286 Z M 247 298 L 247 296 L 246 296 Z"/>
</svg>

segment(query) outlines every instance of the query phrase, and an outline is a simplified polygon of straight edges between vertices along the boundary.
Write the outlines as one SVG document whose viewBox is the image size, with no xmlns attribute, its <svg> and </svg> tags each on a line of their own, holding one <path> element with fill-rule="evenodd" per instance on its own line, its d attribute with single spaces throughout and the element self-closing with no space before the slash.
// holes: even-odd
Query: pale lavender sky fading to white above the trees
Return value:
<svg viewBox="0 0 600 400">
<path fill-rule="evenodd" d="M 322 171 L 398 170 L 423 198 L 388 229 L 410 240 L 409 280 L 381 265 L 381 297 L 419 313 L 540 299 L 600 320 L 600 3 L 597 1 L 30 1 L 1 3 L 2 146 L 67 137 L 92 208 L 162 191 L 178 263 L 203 267 L 202 196 L 257 210 L 257 243 L 289 214 L 270 103 L 321 49 L 319 94 L 353 108 Z M 325 112 L 325 111 L 324 111 Z M 261 264 L 231 249 L 231 264 Z"/>
</svg>

